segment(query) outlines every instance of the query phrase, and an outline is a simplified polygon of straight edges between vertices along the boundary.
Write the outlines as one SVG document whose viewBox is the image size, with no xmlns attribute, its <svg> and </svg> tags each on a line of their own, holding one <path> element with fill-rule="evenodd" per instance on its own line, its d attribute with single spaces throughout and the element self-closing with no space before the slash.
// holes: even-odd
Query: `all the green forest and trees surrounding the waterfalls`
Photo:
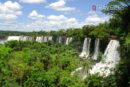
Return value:
<svg viewBox="0 0 130 87">
<path fill-rule="evenodd" d="M 51 32 L 5 32 L 0 36 L 52 35 L 74 37 L 70 46 L 54 42 L 17 42 L 11 41 L 0 45 L 0 86 L 1 87 L 130 87 L 130 1 L 112 0 L 104 13 L 112 18 L 97 26 L 51 31 Z M 80 75 L 71 75 L 76 68 L 84 65 L 90 68 L 94 61 L 81 61 L 81 51 L 85 37 L 99 38 L 108 42 L 111 35 L 121 43 L 121 60 L 115 73 L 108 77 L 88 75 L 82 80 Z M 101 49 L 104 49 L 104 43 Z M 103 50 L 101 50 L 103 52 Z M 101 53 L 102 54 L 102 53 Z"/>
</svg>

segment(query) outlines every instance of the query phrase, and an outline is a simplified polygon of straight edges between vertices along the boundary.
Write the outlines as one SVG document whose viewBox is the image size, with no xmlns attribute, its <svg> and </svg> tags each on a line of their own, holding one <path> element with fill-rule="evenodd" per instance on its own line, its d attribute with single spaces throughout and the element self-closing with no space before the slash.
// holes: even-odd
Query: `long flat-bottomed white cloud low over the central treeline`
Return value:
<svg viewBox="0 0 130 87">
<path fill-rule="evenodd" d="M 30 15 L 30 14 L 29 14 Z M 44 20 L 35 20 L 26 25 L 24 29 L 38 30 L 57 30 L 57 29 L 67 29 L 70 27 L 80 27 L 80 23 L 76 18 L 68 18 L 64 15 L 49 15 L 45 16 Z"/>
</svg>

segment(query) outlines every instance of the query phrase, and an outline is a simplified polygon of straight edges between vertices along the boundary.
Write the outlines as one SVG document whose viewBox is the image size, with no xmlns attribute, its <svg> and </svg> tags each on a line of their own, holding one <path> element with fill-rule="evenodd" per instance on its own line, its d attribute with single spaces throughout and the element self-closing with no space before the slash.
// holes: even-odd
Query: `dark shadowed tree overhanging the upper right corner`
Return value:
<svg viewBox="0 0 130 87">
<path fill-rule="evenodd" d="M 112 0 L 103 12 L 112 15 L 110 27 L 121 29 L 122 33 L 128 34 L 130 31 L 130 0 Z"/>
</svg>

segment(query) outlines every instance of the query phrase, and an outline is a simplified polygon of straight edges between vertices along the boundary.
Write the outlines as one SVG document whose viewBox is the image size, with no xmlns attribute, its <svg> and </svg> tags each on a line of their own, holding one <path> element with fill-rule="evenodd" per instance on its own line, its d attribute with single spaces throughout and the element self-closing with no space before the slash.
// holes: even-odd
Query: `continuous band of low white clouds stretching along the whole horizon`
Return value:
<svg viewBox="0 0 130 87">
<path fill-rule="evenodd" d="M 15 16 L 14 16 L 15 17 Z M 91 13 L 85 20 L 79 22 L 74 17 L 66 17 L 64 15 L 48 15 L 44 16 L 33 10 L 29 18 L 35 19 L 28 23 L 0 24 L 0 30 L 17 30 L 17 31 L 50 31 L 58 29 L 78 28 L 83 25 L 97 25 L 108 20 L 108 17 L 99 17 L 96 13 Z M 13 17 L 12 17 L 13 18 Z M 42 19 L 42 20 L 41 20 Z"/>
</svg>

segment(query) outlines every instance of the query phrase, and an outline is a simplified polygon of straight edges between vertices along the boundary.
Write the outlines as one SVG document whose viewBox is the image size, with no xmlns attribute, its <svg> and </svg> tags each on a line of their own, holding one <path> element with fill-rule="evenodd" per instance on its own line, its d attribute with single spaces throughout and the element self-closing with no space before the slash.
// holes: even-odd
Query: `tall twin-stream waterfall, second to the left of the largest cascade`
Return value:
<svg viewBox="0 0 130 87">
<path fill-rule="evenodd" d="M 90 43 L 91 43 L 91 39 L 90 38 L 85 38 L 82 52 L 79 55 L 80 58 L 88 58 L 89 57 L 89 54 L 90 54 Z"/>
</svg>

